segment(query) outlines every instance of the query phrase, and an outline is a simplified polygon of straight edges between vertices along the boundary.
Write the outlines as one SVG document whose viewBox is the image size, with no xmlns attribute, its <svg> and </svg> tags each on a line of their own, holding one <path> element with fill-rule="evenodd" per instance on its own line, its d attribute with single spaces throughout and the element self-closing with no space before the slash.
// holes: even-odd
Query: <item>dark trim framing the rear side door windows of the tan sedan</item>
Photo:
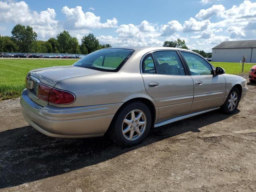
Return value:
<svg viewBox="0 0 256 192">
<path fill-rule="evenodd" d="M 180 58 L 180 61 L 181 61 L 182 66 L 183 66 L 183 68 L 184 68 L 185 75 L 158 74 L 158 73 L 157 73 L 157 70 L 156 70 L 156 73 L 155 73 L 155 74 L 143 73 L 143 72 L 142 72 L 142 61 L 144 60 L 144 58 L 145 58 L 146 56 L 148 56 L 148 54 L 151 54 L 151 57 L 152 57 L 152 59 L 153 59 L 154 66 L 155 66 L 155 69 L 156 69 L 156 63 L 155 63 L 155 60 L 154 60 L 154 57 L 153 57 L 152 53 L 154 53 L 154 52 L 160 52 L 160 51 L 175 51 L 175 52 L 178 54 L 178 57 Z M 182 55 L 179 53 L 178 50 L 175 50 L 175 49 L 173 49 L 173 50 L 172 50 L 172 49 L 159 49 L 159 50 L 153 50 L 153 51 L 150 51 L 150 52 L 147 52 L 146 54 L 144 54 L 144 55 L 142 56 L 141 60 L 140 60 L 140 73 L 141 73 L 141 74 L 150 74 L 150 75 L 168 75 L 168 76 L 189 76 L 189 75 L 191 75 L 191 74 L 190 74 L 190 71 L 189 71 L 188 68 L 187 68 L 186 63 L 185 63 L 184 60 L 183 60 Z"/>
</svg>

